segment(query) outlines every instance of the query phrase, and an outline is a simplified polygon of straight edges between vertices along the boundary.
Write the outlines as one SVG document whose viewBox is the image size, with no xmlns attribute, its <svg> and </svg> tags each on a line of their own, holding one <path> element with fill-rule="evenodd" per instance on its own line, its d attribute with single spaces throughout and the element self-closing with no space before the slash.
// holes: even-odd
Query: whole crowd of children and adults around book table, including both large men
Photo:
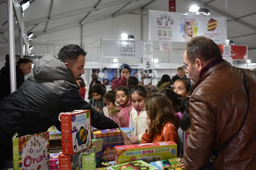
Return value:
<svg viewBox="0 0 256 170">
<path fill-rule="evenodd" d="M 122 132 L 125 144 L 176 142 L 182 169 L 256 167 L 256 73 L 223 60 L 211 39 L 192 38 L 184 66 L 172 79 L 163 75 L 154 91 L 130 76 L 128 64 L 121 65 L 109 91 L 92 74 L 89 102 L 80 79 L 85 55 L 70 44 L 58 56 L 40 58 L 34 76 L 1 100 L 0 169 L 12 153 L 13 134 L 44 132 L 53 124 L 60 129 L 59 114 L 80 109 L 91 110 L 97 129 L 134 128 L 131 137 Z"/>
</svg>

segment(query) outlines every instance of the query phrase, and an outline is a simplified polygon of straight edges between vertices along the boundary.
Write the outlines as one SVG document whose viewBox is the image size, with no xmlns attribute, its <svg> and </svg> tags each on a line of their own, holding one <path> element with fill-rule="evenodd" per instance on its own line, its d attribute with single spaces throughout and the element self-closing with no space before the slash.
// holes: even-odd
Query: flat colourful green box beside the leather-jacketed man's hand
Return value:
<svg viewBox="0 0 256 170">
<path fill-rule="evenodd" d="M 153 165 L 154 167 L 158 169 L 173 169 L 173 170 L 182 170 L 179 165 L 181 164 L 181 158 L 172 158 L 172 159 L 166 159 L 162 161 L 156 161 L 156 162 L 150 162 L 150 165 Z"/>
</svg>

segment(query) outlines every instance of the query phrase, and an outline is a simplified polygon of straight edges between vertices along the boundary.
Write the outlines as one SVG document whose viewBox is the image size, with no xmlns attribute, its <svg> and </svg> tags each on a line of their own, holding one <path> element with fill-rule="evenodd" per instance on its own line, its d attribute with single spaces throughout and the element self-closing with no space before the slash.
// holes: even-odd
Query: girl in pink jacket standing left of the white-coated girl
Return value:
<svg viewBox="0 0 256 170">
<path fill-rule="evenodd" d="M 113 121 L 117 122 L 119 128 L 129 127 L 130 112 L 132 104 L 129 98 L 129 90 L 125 86 L 120 86 L 115 89 L 116 92 L 116 104 L 119 112 L 113 115 Z"/>
</svg>

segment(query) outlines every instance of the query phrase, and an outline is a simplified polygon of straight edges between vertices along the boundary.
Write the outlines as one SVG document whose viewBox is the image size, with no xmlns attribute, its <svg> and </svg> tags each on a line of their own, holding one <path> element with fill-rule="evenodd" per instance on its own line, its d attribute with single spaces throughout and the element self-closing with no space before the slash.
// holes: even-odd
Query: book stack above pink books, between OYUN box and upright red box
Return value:
<svg viewBox="0 0 256 170">
<path fill-rule="evenodd" d="M 52 126 L 47 131 L 49 132 L 50 152 L 61 152 L 61 132 L 55 126 Z"/>
</svg>

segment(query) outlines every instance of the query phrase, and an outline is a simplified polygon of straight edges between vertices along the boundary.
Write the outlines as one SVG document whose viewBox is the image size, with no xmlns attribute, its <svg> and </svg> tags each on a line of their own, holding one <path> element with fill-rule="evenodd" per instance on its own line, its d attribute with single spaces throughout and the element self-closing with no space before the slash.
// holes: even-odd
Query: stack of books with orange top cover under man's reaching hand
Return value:
<svg viewBox="0 0 256 170">
<path fill-rule="evenodd" d="M 123 143 L 122 132 L 118 129 L 93 130 L 94 139 L 103 139 L 103 145 Z"/>
</svg>

